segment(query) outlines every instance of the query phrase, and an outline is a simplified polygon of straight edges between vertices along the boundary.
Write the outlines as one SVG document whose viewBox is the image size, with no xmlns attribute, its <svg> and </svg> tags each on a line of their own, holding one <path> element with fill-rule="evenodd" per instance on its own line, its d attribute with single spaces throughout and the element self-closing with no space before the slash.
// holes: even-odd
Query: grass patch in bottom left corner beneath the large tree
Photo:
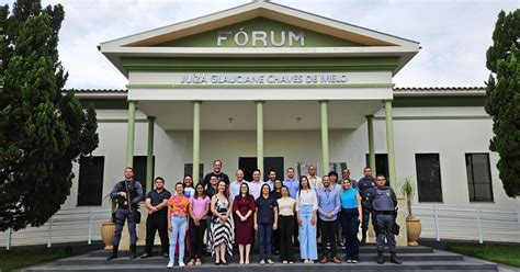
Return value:
<svg viewBox="0 0 520 272">
<path fill-rule="evenodd" d="M 70 256 L 65 249 L 27 248 L 0 251 L 0 272 L 31 267 Z"/>
</svg>

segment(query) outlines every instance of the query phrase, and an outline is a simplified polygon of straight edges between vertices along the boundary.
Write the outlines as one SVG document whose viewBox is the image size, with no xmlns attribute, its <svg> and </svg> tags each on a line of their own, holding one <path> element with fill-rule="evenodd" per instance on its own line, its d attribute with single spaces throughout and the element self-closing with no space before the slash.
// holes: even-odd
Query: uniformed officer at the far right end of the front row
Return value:
<svg viewBox="0 0 520 272">
<path fill-rule="evenodd" d="M 377 234 L 377 263 L 383 264 L 385 259 L 383 250 L 385 238 L 391 251 L 391 262 L 400 264 L 396 257 L 394 226 L 396 217 L 397 197 L 389 186 L 386 186 L 386 179 L 383 174 L 377 175 L 376 188 L 369 191 L 370 206 L 375 214 L 375 231 Z"/>
</svg>

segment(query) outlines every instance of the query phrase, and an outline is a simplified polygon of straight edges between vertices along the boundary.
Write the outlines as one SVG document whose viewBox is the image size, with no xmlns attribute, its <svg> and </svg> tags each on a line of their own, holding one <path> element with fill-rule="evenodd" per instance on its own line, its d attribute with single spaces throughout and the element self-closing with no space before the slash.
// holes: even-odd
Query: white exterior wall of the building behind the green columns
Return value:
<svg viewBox="0 0 520 272">
<path fill-rule="evenodd" d="M 105 156 L 103 195 L 108 195 L 115 181 L 122 179 L 126 154 L 126 111 L 100 110 L 100 147 L 94 156 Z M 329 116 L 337 118 L 340 116 Z M 137 113 L 135 155 L 146 156 L 147 124 L 143 113 Z M 386 154 L 384 110 L 375 115 L 375 152 Z M 415 154 L 437 152 L 440 156 L 443 204 L 473 207 L 515 208 L 518 201 L 504 193 L 498 178 L 497 154 L 489 152 L 491 121 L 482 107 L 397 107 L 394 109 L 396 171 L 398 182 L 406 177 L 417 180 Z M 361 177 L 368 154 L 366 123 L 357 129 L 329 132 L 330 162 L 347 162 L 352 177 Z M 468 201 L 465 168 L 466 152 L 489 152 L 494 202 Z M 172 189 L 181 180 L 184 163 L 192 160 L 191 131 L 165 132 L 156 125 L 156 175 L 167 180 Z M 256 157 L 256 132 L 201 132 L 201 163 L 204 172 L 212 170 L 214 159 L 223 160 L 223 171 L 235 177 L 239 157 Z M 319 131 L 267 131 L 264 157 L 284 157 L 284 168 L 298 161 L 316 162 L 321 174 Z M 75 168 L 78 177 L 79 167 Z M 75 207 L 78 182 L 64 207 Z M 417 199 L 416 199 L 417 202 Z M 108 205 L 106 201 L 103 205 Z M 423 203 L 431 204 L 431 203 Z"/>
</svg>

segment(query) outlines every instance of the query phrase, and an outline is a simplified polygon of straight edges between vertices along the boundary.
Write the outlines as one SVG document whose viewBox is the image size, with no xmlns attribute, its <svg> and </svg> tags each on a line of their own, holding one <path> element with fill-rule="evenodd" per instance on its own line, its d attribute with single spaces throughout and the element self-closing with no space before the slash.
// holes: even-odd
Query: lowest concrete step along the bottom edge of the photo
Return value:
<svg viewBox="0 0 520 272">
<path fill-rule="evenodd" d="M 127 261 L 117 265 L 41 265 L 35 268 L 25 269 L 23 271 L 36 272 L 36 271 L 128 271 L 128 272 L 140 272 L 140 271 L 166 271 L 167 262 L 161 263 L 140 263 L 140 260 Z M 176 263 L 177 264 L 177 263 Z M 294 264 L 265 264 L 260 265 L 258 263 L 251 263 L 249 265 L 240 265 L 238 263 L 229 263 L 228 265 L 214 265 L 203 264 L 196 268 L 189 268 L 190 270 L 197 271 L 212 271 L 212 272 L 233 272 L 247 268 L 248 271 L 252 272 L 316 272 L 317 269 L 326 269 L 328 272 L 343 272 L 344 270 L 355 271 L 497 271 L 497 264 L 488 262 L 475 262 L 475 261 L 409 261 L 403 264 L 376 264 L 374 262 L 360 262 L 358 264 L 342 263 L 342 264 L 304 264 L 302 262 Z M 176 270 L 178 267 L 176 267 Z"/>
</svg>

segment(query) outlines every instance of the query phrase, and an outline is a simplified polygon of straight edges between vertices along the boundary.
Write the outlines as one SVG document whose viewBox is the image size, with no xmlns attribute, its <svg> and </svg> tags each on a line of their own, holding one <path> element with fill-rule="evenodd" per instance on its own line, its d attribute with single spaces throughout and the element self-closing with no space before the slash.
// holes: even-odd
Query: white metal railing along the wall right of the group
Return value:
<svg viewBox="0 0 520 272">
<path fill-rule="evenodd" d="M 415 205 L 423 238 L 520 242 L 520 211 L 450 205 Z"/>
</svg>

